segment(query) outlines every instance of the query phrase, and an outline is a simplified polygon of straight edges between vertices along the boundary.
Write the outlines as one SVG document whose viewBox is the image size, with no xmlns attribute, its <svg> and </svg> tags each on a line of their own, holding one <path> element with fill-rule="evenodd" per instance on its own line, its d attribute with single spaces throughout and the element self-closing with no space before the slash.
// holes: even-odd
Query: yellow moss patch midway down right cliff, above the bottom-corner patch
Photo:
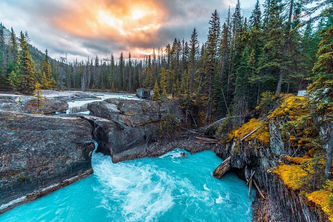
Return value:
<svg viewBox="0 0 333 222">
<path fill-rule="evenodd" d="M 295 164 L 291 164 L 289 166 L 284 163 L 282 163 L 278 168 L 275 168 L 273 172 L 282 179 L 288 188 L 293 190 L 299 190 L 302 185 L 302 177 L 308 175 L 308 173 L 300 166 Z"/>
</svg>

